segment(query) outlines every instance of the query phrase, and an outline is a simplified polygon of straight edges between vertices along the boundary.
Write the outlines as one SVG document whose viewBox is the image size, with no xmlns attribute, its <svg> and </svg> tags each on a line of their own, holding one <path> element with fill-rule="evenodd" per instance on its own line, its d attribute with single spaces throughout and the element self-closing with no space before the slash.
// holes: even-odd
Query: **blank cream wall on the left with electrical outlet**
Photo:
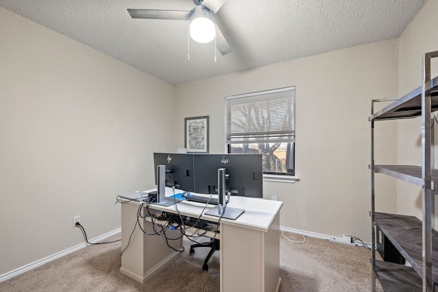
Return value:
<svg viewBox="0 0 438 292">
<path fill-rule="evenodd" d="M 3 8 L 0 39 L 1 275 L 82 243 L 75 215 L 120 228 L 116 195 L 175 149 L 175 87 Z"/>
</svg>

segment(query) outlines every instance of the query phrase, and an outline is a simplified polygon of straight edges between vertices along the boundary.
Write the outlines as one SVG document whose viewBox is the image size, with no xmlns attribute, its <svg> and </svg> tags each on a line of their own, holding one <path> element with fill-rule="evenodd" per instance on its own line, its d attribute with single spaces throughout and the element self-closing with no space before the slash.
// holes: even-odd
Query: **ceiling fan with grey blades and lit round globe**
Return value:
<svg viewBox="0 0 438 292">
<path fill-rule="evenodd" d="M 175 21 L 190 21 L 190 37 L 196 42 L 211 42 L 216 36 L 216 47 L 222 55 L 231 52 L 218 25 L 214 22 L 214 14 L 227 0 L 193 0 L 195 8 L 190 11 L 128 9 L 132 18 L 170 19 Z"/>
</svg>

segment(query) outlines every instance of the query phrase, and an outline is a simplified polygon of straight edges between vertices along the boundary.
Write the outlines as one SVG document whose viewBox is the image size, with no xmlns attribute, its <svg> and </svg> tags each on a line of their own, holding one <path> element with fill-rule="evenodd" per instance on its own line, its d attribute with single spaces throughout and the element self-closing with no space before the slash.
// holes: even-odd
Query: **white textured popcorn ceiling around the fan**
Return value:
<svg viewBox="0 0 438 292">
<path fill-rule="evenodd" d="M 400 36 L 426 0 L 227 0 L 215 14 L 231 53 L 190 40 L 188 22 L 127 8 L 192 10 L 192 0 L 0 0 L 3 8 L 172 84 Z"/>
</svg>

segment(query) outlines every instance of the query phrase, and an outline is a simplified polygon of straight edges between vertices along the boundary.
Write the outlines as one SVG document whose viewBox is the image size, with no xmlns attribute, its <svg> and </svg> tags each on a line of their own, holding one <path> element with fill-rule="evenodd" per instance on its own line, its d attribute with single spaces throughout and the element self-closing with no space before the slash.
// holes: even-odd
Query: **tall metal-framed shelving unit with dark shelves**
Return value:
<svg viewBox="0 0 438 292">
<path fill-rule="evenodd" d="M 438 51 L 423 55 L 422 86 L 396 99 L 387 107 L 374 113 L 372 101 L 371 116 L 371 217 L 372 217 L 372 288 L 376 291 L 376 278 L 385 291 L 438 291 L 438 233 L 435 230 L 435 194 L 438 193 L 438 169 L 433 168 L 433 111 L 438 110 L 438 77 L 430 78 L 430 59 L 438 57 Z M 422 119 L 422 165 L 375 165 L 374 123 L 379 120 L 403 118 Z M 375 211 L 376 173 L 387 174 L 422 188 L 422 220 L 413 216 Z M 376 232 L 378 230 L 378 232 Z M 377 238 L 378 237 L 378 238 Z M 383 241 L 383 239 L 385 241 Z M 391 256 L 382 252 L 383 242 Z M 435 243 L 435 246 L 433 246 Z M 376 249 L 383 254 L 384 261 L 376 261 Z M 408 265 L 396 263 L 402 258 Z"/>
</svg>

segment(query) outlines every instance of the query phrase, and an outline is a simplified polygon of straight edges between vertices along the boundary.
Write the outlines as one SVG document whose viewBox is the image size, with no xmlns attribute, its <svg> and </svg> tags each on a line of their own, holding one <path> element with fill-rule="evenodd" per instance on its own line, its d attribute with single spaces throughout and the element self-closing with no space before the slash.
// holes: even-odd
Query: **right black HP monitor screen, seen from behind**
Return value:
<svg viewBox="0 0 438 292">
<path fill-rule="evenodd" d="M 263 198 L 261 154 L 195 154 L 193 158 L 196 193 L 218 194 L 218 169 L 225 168 L 227 193 Z"/>
</svg>

